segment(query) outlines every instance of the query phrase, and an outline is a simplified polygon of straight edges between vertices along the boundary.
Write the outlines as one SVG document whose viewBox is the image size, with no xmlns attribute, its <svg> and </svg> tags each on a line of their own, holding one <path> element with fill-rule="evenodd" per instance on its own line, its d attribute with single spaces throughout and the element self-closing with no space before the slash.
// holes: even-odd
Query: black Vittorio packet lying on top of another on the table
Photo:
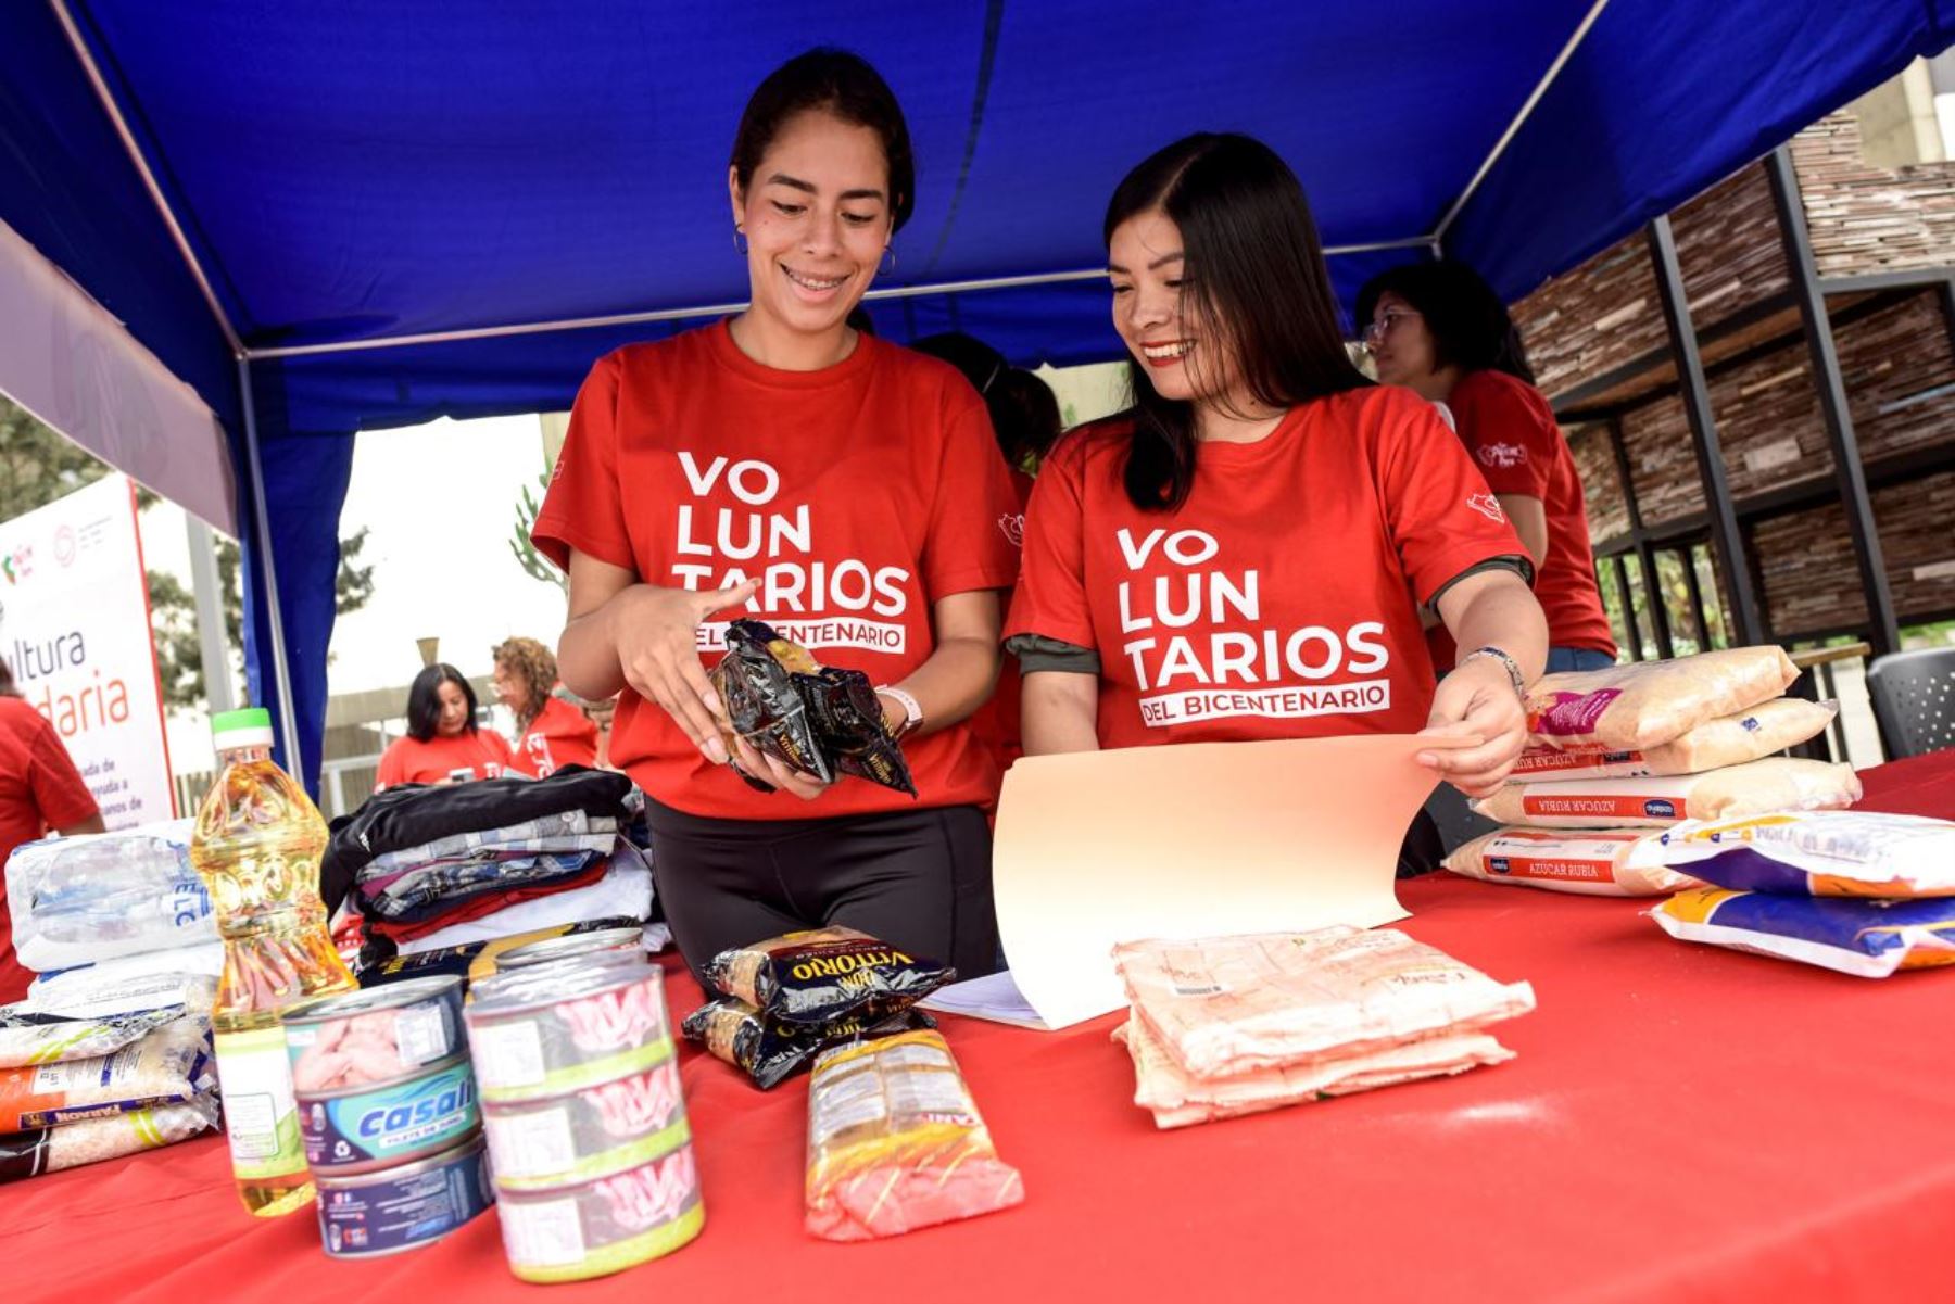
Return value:
<svg viewBox="0 0 1955 1304">
<path fill-rule="evenodd" d="M 934 960 L 905 956 L 854 929 L 786 933 L 731 946 L 706 964 L 706 981 L 782 1022 L 833 1022 L 856 1013 L 890 1017 L 956 978 Z"/>
</svg>

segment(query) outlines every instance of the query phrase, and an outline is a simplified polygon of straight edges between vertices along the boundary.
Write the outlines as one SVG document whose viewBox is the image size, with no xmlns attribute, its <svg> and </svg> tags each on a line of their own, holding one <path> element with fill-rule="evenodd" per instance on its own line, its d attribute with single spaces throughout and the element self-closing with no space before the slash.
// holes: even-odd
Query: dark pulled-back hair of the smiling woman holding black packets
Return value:
<svg viewBox="0 0 1955 1304">
<path fill-rule="evenodd" d="M 733 176 L 745 192 L 774 137 L 788 119 L 819 109 L 845 123 L 868 127 L 882 139 L 890 164 L 890 229 L 901 231 L 917 203 L 917 162 L 909 151 L 909 123 L 895 92 L 862 55 L 845 49 L 811 49 L 766 74 L 733 133 Z"/>
</svg>

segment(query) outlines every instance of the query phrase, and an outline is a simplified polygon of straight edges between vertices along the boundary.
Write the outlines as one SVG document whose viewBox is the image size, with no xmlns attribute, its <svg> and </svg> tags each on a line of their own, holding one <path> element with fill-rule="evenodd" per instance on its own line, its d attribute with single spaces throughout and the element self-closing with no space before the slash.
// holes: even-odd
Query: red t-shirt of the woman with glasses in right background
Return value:
<svg viewBox="0 0 1955 1304">
<path fill-rule="evenodd" d="M 1468 371 L 1447 407 L 1488 489 L 1541 499 L 1548 555 L 1535 567 L 1535 598 L 1548 618 L 1548 645 L 1591 647 L 1613 657 L 1615 635 L 1595 587 L 1582 477 L 1554 409 L 1539 389 L 1505 371 Z M 1431 647 L 1433 661 L 1451 669 L 1456 653 L 1445 626 L 1431 630 Z"/>
</svg>

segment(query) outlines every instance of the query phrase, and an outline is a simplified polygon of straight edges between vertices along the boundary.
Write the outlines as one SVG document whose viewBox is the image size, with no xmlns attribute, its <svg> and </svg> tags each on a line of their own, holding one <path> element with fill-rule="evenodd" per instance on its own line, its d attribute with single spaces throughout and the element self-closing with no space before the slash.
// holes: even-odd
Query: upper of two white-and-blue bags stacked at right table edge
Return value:
<svg viewBox="0 0 1955 1304">
<path fill-rule="evenodd" d="M 1877 811 L 1801 811 L 1689 821 L 1650 839 L 1662 864 L 1736 891 L 1808 897 L 1955 895 L 1955 823 Z"/>
</svg>

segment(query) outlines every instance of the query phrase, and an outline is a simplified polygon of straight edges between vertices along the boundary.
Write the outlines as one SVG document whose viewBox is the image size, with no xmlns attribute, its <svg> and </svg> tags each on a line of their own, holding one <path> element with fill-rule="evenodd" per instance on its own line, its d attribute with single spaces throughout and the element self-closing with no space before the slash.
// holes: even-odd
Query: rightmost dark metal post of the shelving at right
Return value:
<svg viewBox="0 0 1955 1304">
<path fill-rule="evenodd" d="M 1793 170 L 1789 147 L 1781 145 L 1765 156 L 1765 176 L 1771 180 L 1771 207 L 1779 215 L 1779 240 L 1785 244 L 1785 270 L 1806 334 L 1806 356 L 1812 360 L 1812 385 L 1820 391 L 1834 479 L 1840 483 L 1840 502 L 1853 534 L 1859 587 L 1867 594 L 1867 641 L 1879 657 L 1900 647 L 1900 626 L 1894 620 L 1894 596 L 1887 587 L 1881 526 L 1867 497 L 1867 469 L 1861 465 L 1859 440 L 1853 436 L 1853 414 L 1846 401 L 1846 381 L 1840 377 L 1840 350 L 1834 348 L 1832 323 L 1826 319 L 1826 295 L 1820 291 L 1818 268 L 1812 262 L 1812 237 L 1806 231 L 1806 209 L 1799 197 L 1799 172 Z"/>
</svg>

